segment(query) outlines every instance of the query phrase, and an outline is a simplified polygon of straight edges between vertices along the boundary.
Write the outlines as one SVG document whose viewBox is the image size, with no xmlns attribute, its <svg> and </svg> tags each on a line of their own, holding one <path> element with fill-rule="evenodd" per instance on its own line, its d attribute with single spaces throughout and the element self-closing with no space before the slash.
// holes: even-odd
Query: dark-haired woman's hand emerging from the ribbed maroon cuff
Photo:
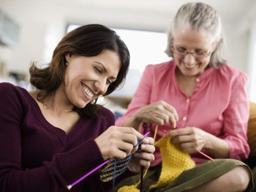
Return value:
<svg viewBox="0 0 256 192">
<path fill-rule="evenodd" d="M 143 139 L 143 137 L 140 132 L 132 127 L 110 126 L 94 141 L 98 145 L 104 160 L 112 157 L 123 159 L 137 151 L 138 140 Z"/>
</svg>

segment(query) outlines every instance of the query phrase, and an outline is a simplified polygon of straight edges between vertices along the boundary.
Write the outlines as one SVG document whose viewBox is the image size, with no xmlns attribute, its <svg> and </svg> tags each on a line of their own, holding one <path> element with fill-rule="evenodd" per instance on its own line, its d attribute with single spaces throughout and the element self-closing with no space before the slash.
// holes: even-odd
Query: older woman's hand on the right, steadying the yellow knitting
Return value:
<svg viewBox="0 0 256 192">
<path fill-rule="evenodd" d="M 177 130 L 172 130 L 166 133 L 167 136 L 173 137 L 172 144 L 181 144 L 184 151 L 195 153 L 201 151 L 207 144 L 209 133 L 197 127 L 185 127 Z"/>
</svg>

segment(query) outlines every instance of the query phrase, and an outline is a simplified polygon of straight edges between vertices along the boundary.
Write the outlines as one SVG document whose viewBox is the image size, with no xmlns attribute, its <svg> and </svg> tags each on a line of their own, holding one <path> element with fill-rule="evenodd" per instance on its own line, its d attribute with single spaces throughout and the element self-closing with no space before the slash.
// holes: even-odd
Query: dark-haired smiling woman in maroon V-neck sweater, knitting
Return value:
<svg viewBox="0 0 256 192">
<path fill-rule="evenodd" d="M 113 126 L 114 115 L 96 103 L 122 84 L 129 60 L 114 31 L 89 24 L 62 38 L 47 67 L 32 63 L 33 91 L 0 84 L 1 192 L 64 192 L 106 160 L 107 168 L 113 159 L 125 162 L 108 178 L 102 167 L 71 188 L 105 192 L 149 167 L 153 138 Z M 143 150 L 137 151 L 138 143 Z"/>
</svg>

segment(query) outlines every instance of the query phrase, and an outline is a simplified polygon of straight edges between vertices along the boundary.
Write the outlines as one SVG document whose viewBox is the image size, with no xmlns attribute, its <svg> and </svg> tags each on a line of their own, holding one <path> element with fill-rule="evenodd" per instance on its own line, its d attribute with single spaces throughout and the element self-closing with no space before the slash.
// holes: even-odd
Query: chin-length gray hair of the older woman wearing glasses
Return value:
<svg viewBox="0 0 256 192">
<path fill-rule="evenodd" d="M 226 46 L 226 38 L 222 29 L 219 14 L 209 5 L 205 3 L 186 3 L 184 4 L 176 16 L 174 17 L 171 30 L 168 32 L 168 45 L 165 53 L 169 57 L 173 57 L 171 51 L 171 43 L 175 29 L 177 26 L 188 25 L 192 30 L 205 30 L 210 32 L 215 41 L 219 41 L 216 50 L 212 53 L 209 62 L 210 67 L 218 68 L 225 64 L 223 59 L 223 51 Z"/>
</svg>

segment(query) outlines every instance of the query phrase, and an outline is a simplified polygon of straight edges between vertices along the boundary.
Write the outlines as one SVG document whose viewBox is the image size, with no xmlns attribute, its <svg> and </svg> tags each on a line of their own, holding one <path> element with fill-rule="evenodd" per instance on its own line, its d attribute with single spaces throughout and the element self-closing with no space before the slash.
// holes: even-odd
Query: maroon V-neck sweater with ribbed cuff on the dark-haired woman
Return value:
<svg viewBox="0 0 256 192">
<path fill-rule="evenodd" d="M 114 115 L 101 108 L 104 118 L 80 119 L 66 134 L 42 115 L 37 102 L 20 87 L 0 83 L 0 192 L 65 192 L 66 186 L 104 162 L 94 139 L 114 125 Z M 115 183 L 132 176 L 126 170 Z M 75 185 L 91 192 L 112 190 L 98 172 Z"/>
</svg>

